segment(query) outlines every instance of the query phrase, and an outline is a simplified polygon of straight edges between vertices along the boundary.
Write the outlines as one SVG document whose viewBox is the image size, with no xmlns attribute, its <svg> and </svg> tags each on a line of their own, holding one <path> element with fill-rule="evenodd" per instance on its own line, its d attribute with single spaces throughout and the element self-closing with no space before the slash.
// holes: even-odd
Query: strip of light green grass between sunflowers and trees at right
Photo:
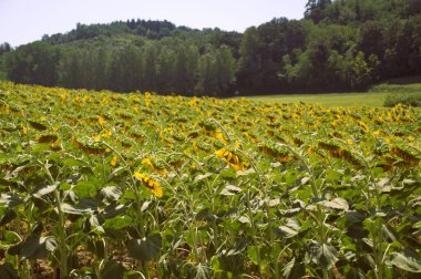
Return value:
<svg viewBox="0 0 421 279">
<path fill-rule="evenodd" d="M 383 106 L 389 94 L 417 94 L 421 95 L 421 83 L 412 84 L 379 84 L 368 92 L 360 93 L 326 93 L 326 94 L 280 94 L 253 96 L 250 99 L 269 103 L 318 103 L 331 106 Z"/>
</svg>

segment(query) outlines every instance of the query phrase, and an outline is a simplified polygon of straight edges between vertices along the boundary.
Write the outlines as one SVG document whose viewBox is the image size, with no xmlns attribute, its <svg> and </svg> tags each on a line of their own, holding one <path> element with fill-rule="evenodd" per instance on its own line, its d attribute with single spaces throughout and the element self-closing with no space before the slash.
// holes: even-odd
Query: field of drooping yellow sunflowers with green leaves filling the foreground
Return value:
<svg viewBox="0 0 421 279">
<path fill-rule="evenodd" d="M 421 111 L 0 83 L 0 278 L 420 278 Z"/>
</svg>

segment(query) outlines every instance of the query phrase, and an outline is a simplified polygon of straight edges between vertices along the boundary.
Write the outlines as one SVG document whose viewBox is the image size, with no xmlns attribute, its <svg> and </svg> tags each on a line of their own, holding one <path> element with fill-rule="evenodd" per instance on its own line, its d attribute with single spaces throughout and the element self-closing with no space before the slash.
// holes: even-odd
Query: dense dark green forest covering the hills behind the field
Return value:
<svg viewBox="0 0 421 279">
<path fill-rule="evenodd" d="M 420 65 L 421 0 L 309 0 L 244 33 L 132 19 L 0 44 L 0 79 L 158 94 L 359 91 Z"/>
</svg>

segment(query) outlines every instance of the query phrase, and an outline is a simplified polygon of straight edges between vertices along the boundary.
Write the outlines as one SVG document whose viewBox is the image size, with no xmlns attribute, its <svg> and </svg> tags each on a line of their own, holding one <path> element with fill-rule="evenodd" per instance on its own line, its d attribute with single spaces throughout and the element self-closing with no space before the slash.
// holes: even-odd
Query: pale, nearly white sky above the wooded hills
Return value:
<svg viewBox="0 0 421 279">
<path fill-rule="evenodd" d="M 301 19 L 307 0 L 0 0 L 0 43 L 65 33 L 76 23 L 168 20 L 195 29 L 244 32 L 274 18 Z"/>
</svg>

